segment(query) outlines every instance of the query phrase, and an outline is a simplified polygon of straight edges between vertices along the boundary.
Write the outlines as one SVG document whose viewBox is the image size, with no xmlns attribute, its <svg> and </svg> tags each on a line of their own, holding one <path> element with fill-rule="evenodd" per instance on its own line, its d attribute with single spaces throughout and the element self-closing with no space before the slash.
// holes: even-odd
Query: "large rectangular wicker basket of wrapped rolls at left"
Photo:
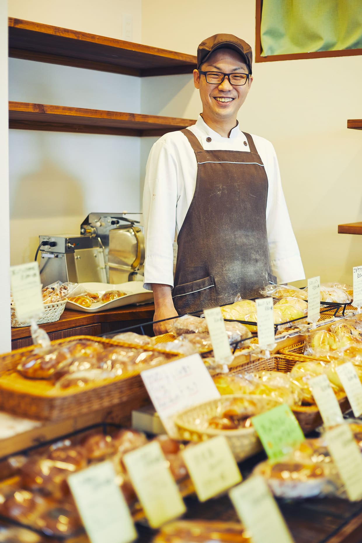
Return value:
<svg viewBox="0 0 362 543">
<path fill-rule="evenodd" d="M 120 342 L 111 339 L 92 336 L 58 339 L 52 345 L 82 339 L 94 340 L 105 346 L 120 345 Z M 34 345 L 0 356 L 0 409 L 3 411 L 30 419 L 59 420 L 129 400 L 138 399 L 141 402 L 148 398 L 138 369 L 124 376 L 87 384 L 84 388 L 65 390 L 55 388 L 47 380 L 27 379 L 14 370 L 22 356 L 33 349 Z"/>
</svg>

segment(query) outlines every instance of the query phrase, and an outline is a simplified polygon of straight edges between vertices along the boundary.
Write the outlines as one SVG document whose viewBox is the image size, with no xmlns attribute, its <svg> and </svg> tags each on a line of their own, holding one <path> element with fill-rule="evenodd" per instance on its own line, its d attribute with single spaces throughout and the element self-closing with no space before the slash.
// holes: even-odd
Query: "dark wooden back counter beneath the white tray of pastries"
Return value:
<svg viewBox="0 0 362 543">
<path fill-rule="evenodd" d="M 41 324 L 50 339 L 61 339 L 69 336 L 99 336 L 113 330 L 127 328 L 136 324 L 148 323 L 153 319 L 155 306 L 145 304 L 139 306 L 124 306 L 97 313 L 64 310 L 60 319 L 55 323 Z M 138 330 L 135 330 L 138 332 Z M 152 333 L 151 326 L 144 330 Z M 30 326 L 11 329 L 11 348 L 19 349 L 31 345 Z"/>
</svg>

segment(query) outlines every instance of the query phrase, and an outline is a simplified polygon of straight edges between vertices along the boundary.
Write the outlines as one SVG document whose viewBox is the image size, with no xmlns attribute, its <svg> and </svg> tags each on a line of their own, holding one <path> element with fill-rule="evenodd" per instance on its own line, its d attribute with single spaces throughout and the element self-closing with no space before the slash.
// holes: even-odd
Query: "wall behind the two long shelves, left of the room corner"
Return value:
<svg viewBox="0 0 362 543">
<path fill-rule="evenodd" d="M 122 39 L 132 15 L 141 41 L 141 0 L 9 0 L 9 16 Z M 9 99 L 138 113 L 139 78 L 9 60 Z M 140 211 L 136 137 L 10 130 L 11 264 L 33 260 L 39 235 L 79 233 L 93 211 Z"/>
</svg>

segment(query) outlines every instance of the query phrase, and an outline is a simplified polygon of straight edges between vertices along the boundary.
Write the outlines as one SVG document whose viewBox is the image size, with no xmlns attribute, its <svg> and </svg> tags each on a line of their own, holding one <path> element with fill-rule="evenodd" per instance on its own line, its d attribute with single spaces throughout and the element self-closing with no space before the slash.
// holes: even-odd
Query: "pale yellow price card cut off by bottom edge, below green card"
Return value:
<svg viewBox="0 0 362 543">
<path fill-rule="evenodd" d="M 253 543 L 293 543 L 288 527 L 260 475 L 249 477 L 229 492 L 240 521 Z"/>
</svg>

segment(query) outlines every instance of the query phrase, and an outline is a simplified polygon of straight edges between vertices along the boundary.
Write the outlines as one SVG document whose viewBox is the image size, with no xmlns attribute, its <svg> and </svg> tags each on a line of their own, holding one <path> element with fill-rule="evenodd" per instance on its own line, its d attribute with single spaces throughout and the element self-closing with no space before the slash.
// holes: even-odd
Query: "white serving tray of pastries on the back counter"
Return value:
<svg viewBox="0 0 362 543">
<path fill-rule="evenodd" d="M 122 296 L 122 298 L 111 300 L 110 302 L 96 302 L 96 304 L 92 304 L 92 307 L 82 307 L 68 300 L 65 306 L 67 309 L 84 311 L 86 313 L 97 313 L 97 311 L 103 311 L 105 309 L 151 302 L 154 299 L 153 292 L 143 288 L 141 281 L 129 281 L 127 283 L 118 283 L 117 285 L 111 283 L 79 283 L 79 285 L 84 287 L 88 292 L 123 291 L 128 294 Z M 72 293 L 72 296 L 77 295 L 78 293 Z"/>
</svg>

